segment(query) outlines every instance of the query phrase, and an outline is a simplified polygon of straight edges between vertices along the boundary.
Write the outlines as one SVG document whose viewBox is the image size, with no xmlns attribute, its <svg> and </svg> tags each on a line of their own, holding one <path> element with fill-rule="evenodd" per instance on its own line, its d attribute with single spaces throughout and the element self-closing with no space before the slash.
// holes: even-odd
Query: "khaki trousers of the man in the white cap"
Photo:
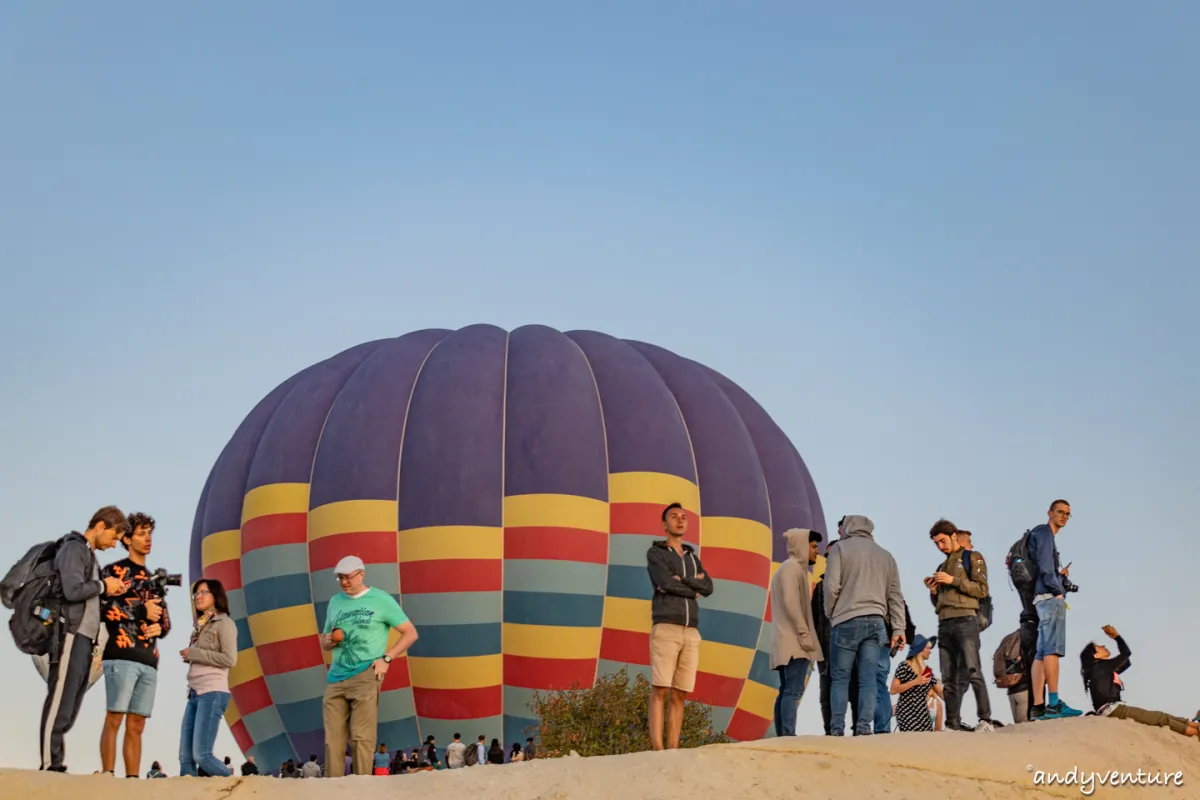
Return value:
<svg viewBox="0 0 1200 800">
<path fill-rule="evenodd" d="M 354 678 L 325 686 L 325 777 L 346 774 L 346 746 L 350 746 L 355 775 L 371 775 L 379 722 L 379 681 L 367 667 Z"/>
</svg>

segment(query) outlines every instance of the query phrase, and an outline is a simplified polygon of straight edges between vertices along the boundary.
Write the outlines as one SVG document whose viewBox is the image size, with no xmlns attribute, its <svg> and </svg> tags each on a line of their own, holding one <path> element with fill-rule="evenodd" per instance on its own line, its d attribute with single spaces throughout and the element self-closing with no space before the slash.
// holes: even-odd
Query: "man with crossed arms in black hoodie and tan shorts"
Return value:
<svg viewBox="0 0 1200 800">
<path fill-rule="evenodd" d="M 662 750 L 662 703 L 671 697 L 667 712 L 667 747 L 679 747 L 683 706 L 696 687 L 700 666 L 700 603 L 697 597 L 713 594 L 713 579 L 691 545 L 684 545 L 688 512 L 678 503 L 662 510 L 667 537 L 646 552 L 654 596 L 650 600 L 650 745 Z"/>
</svg>

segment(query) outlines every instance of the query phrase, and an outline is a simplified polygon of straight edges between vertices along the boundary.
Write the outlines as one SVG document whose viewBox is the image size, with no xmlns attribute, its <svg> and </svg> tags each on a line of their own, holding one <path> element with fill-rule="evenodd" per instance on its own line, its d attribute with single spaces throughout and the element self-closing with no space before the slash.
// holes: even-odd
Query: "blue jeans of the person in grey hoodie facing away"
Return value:
<svg viewBox="0 0 1200 800">
<path fill-rule="evenodd" d="M 850 702 L 850 670 L 857 660 L 858 669 L 858 723 L 856 736 L 872 733 L 875 708 L 878 705 L 880 650 L 887 656 L 887 627 L 883 618 L 856 616 L 841 625 L 834 625 L 829 633 L 833 650 L 829 664 L 829 735 L 846 733 L 846 704 Z"/>
</svg>

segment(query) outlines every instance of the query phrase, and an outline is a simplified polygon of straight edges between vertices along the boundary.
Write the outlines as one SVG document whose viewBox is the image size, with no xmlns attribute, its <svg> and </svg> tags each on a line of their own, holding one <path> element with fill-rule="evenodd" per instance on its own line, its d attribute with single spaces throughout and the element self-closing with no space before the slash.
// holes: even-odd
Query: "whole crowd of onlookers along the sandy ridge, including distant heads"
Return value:
<svg viewBox="0 0 1200 800">
<path fill-rule="evenodd" d="M 1015 585 L 1021 595 L 1019 628 L 1006 637 L 994 662 L 996 682 L 1008 690 L 1014 722 L 1079 716 L 1060 697 L 1060 660 L 1066 657 L 1067 606 L 1075 589 L 1070 564 L 1061 566 L 1056 537 L 1070 519 L 1070 505 L 1055 500 L 1048 522 L 1027 531 L 1009 554 L 1010 575 L 1026 575 Z M 653 588 L 649 662 L 652 697 L 649 738 L 654 750 L 679 746 L 684 703 L 695 688 L 700 664 L 700 599 L 714 591 L 695 549 L 684 542 L 689 515 L 678 503 L 662 510 L 665 539 L 647 551 Z M 74 724 L 88 692 L 90 675 L 102 664 L 107 714 L 100 738 L 102 771 L 115 772 L 116 740 L 125 775 L 137 777 L 142 738 L 157 691 L 158 642 L 172 631 L 172 618 L 156 578 L 146 566 L 155 521 L 144 513 L 126 517 L 106 506 L 84 533 L 72 531 L 53 543 L 55 594 L 40 596 L 25 608 L 23 595 L 8 584 L 14 575 L 34 567 L 18 563 L 5 579 L 6 604 L 14 615 L 40 614 L 54 631 L 49 645 L 47 697 L 42 710 L 41 769 L 65 772 L 64 738 Z M 770 666 L 779 674 L 774 724 L 778 735 L 796 734 L 797 705 L 809 666 L 820 675 L 824 733 L 846 733 L 847 705 L 853 735 L 924 730 L 991 730 L 992 717 L 980 657 L 979 632 L 991 622 L 988 564 L 972 546 L 971 534 L 947 519 L 929 531 L 941 554 L 937 569 L 924 579 L 937 614 L 937 633 L 918 634 L 900 587 L 893 555 L 875 541 L 874 523 L 863 516 L 844 517 L 839 539 L 826 548 L 826 570 L 810 587 L 810 571 L 820 558 L 823 535 L 793 529 L 784 534 L 788 558 L 770 582 Z M 96 553 L 121 545 L 126 555 L 101 569 Z M 37 548 L 26 555 L 32 559 Z M 1014 564 L 1025 571 L 1014 569 Z M 25 572 L 22 572 L 24 570 Z M 35 570 L 36 571 L 36 570 Z M 418 631 L 400 603 L 386 591 L 368 587 L 366 567 L 346 555 L 334 570 L 341 593 L 328 607 L 320 646 L 331 651 L 323 702 L 325 753 L 308 762 L 281 765 L 287 777 L 338 777 L 347 774 L 403 774 L 442 765 L 433 736 L 408 753 L 391 753 L 377 742 L 379 686 L 391 663 L 418 640 Z M 157 583 L 156 583 L 157 581 Z M 28 579 L 22 578 L 22 585 Z M 146 587 L 158 587 L 148 591 Z M 10 603 L 12 596 L 16 601 Z M 229 669 L 238 662 L 238 633 L 220 581 L 202 577 L 191 587 L 192 626 L 187 646 L 178 656 L 188 664 L 187 705 L 180 727 L 179 774 L 229 776 L 229 759 L 214 756 L 218 726 L 229 705 Z M 17 631 L 19 626 L 14 626 Z M 101 633 L 106 634 L 104 637 Z M 390 634 L 396 640 L 390 646 Z M 1169 727 L 1198 736 L 1195 717 L 1170 716 L 1128 705 L 1122 699 L 1121 674 L 1129 667 L 1124 639 L 1105 627 L 1116 643 L 1114 656 L 1090 642 L 1082 650 L 1081 678 L 1092 702 L 1091 714 Z M 16 633 L 14 633 L 16 636 Z M 98 646 L 104 638 L 103 648 Z M 942 680 L 929 664 L 938 650 Z M 893 674 L 892 662 L 907 646 Z M 966 726 L 962 700 L 974 696 L 979 722 Z M 893 706 L 892 697 L 895 697 Z M 665 716 L 665 718 L 664 718 Z M 458 734 L 444 751 L 450 769 L 503 764 L 534 757 L 533 740 L 506 754 L 493 739 L 464 744 Z M 247 772 L 247 769 L 251 771 Z M 253 759 L 242 774 L 257 774 Z M 155 762 L 150 777 L 162 777 Z"/>
</svg>

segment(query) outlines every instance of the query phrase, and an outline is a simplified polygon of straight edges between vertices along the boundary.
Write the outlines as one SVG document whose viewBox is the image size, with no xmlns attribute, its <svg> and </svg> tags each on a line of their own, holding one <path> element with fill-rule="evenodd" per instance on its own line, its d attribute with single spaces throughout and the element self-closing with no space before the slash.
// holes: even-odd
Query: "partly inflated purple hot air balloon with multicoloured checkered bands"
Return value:
<svg viewBox="0 0 1200 800">
<path fill-rule="evenodd" d="M 392 664 L 379 741 L 511 742 L 539 690 L 649 675 L 646 551 L 679 501 L 715 591 L 694 699 L 770 735 L 767 587 L 781 534 L 826 530 L 803 459 L 715 371 L 593 331 L 491 325 L 368 342 L 284 380 L 209 474 L 192 578 L 239 632 L 227 721 L 264 765 L 324 752 L 317 634 L 354 554 L 420 632 Z"/>
</svg>

